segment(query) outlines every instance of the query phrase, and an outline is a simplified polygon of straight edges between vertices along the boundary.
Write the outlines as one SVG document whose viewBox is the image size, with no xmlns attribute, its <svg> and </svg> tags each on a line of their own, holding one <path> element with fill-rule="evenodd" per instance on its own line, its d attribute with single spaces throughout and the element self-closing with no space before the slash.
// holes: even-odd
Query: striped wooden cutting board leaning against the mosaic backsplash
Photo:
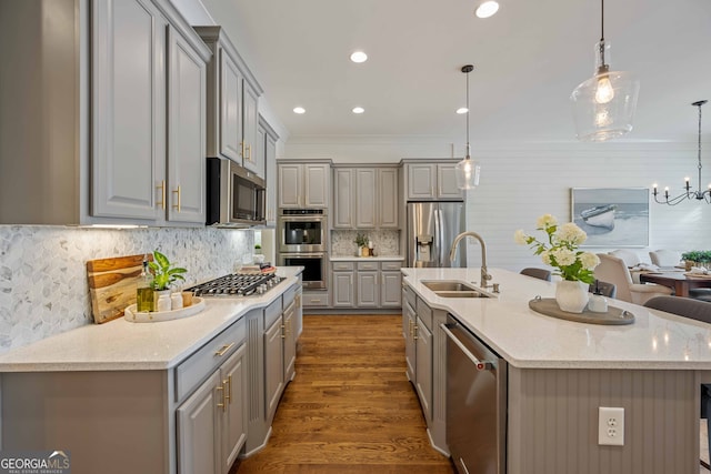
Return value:
<svg viewBox="0 0 711 474">
<path fill-rule="evenodd" d="M 146 255 L 89 260 L 87 276 L 91 312 L 97 324 L 123 316 L 123 310 L 136 303 L 136 285 L 141 278 Z M 153 261 L 153 255 L 148 254 Z"/>
</svg>

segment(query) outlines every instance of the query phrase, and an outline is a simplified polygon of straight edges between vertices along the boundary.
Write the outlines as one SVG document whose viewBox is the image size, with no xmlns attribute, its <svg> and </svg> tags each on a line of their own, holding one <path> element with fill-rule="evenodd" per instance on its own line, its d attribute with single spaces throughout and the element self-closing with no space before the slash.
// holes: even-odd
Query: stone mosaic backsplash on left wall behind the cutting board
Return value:
<svg viewBox="0 0 711 474">
<path fill-rule="evenodd" d="M 0 353 L 93 324 L 88 260 L 158 249 L 188 286 L 233 272 L 253 246 L 251 230 L 0 225 Z"/>
</svg>

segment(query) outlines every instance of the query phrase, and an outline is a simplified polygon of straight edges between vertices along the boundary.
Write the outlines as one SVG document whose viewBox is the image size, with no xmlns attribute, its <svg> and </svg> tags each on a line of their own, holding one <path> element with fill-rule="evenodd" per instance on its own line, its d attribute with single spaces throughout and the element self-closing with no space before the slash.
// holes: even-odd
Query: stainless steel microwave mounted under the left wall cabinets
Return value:
<svg viewBox="0 0 711 474">
<path fill-rule="evenodd" d="M 264 225 L 264 180 L 232 160 L 208 158 L 207 224 L 216 226 Z"/>
</svg>

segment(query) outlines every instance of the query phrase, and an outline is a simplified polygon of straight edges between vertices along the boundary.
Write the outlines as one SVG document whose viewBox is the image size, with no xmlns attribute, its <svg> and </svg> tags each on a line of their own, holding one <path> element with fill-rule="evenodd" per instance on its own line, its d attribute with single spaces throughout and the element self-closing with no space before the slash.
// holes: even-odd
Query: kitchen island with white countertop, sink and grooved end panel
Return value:
<svg viewBox="0 0 711 474">
<path fill-rule="evenodd" d="M 420 306 L 434 314 L 428 426 L 440 451 L 447 452 L 445 336 L 438 321 L 450 313 L 508 363 L 509 474 L 699 472 L 700 385 L 711 383 L 709 324 L 617 300 L 611 305 L 632 312 L 633 324 L 577 323 L 529 309 L 537 295 L 552 297 L 554 283 L 490 269 L 500 285 L 494 297 L 441 297 L 422 282 L 479 285 L 480 269 L 402 272 L 417 295 L 417 321 L 425 320 Z M 427 383 L 415 386 L 421 392 Z M 598 444 L 600 406 L 624 409 L 622 446 Z"/>
</svg>

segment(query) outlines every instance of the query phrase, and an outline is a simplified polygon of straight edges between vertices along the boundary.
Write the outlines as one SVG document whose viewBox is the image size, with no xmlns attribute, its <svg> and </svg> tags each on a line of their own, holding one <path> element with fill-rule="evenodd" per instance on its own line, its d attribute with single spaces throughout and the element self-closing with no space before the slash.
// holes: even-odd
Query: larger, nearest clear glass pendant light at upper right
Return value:
<svg viewBox="0 0 711 474">
<path fill-rule="evenodd" d="M 595 44 L 595 74 L 578 85 L 573 102 L 575 134 L 581 141 L 605 141 L 632 130 L 640 83 L 631 72 L 610 71 L 610 43 L 604 41 L 604 0 L 601 34 Z"/>
</svg>

